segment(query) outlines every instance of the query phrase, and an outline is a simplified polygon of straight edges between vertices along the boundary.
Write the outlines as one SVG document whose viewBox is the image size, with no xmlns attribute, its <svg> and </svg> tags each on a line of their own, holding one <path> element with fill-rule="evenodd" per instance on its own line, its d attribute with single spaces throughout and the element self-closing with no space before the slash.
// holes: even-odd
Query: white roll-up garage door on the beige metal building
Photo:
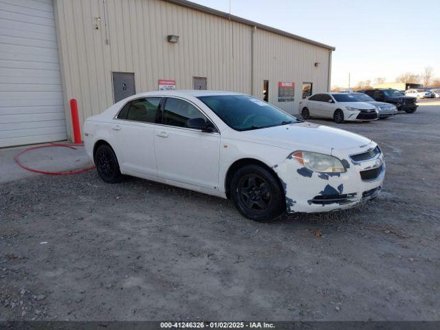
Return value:
<svg viewBox="0 0 440 330">
<path fill-rule="evenodd" d="M 52 0 L 0 0 L 0 147 L 65 138 Z"/>
</svg>

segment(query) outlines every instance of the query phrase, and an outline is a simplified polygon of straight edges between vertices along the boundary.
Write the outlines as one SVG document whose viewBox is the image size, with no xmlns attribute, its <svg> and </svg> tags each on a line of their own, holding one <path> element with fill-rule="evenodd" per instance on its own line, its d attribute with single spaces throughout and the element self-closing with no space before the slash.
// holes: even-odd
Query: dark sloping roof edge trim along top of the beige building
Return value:
<svg viewBox="0 0 440 330">
<path fill-rule="evenodd" d="M 182 7 L 190 8 L 193 10 L 198 10 L 199 12 L 206 12 L 207 14 L 212 14 L 218 17 L 222 17 L 223 19 L 230 19 L 231 21 L 243 23 L 245 25 L 249 25 L 252 27 L 255 26 L 256 28 L 259 28 L 261 30 L 269 31 L 275 34 L 279 34 L 281 36 L 287 36 L 287 38 L 303 41 L 304 43 L 309 43 L 310 45 L 327 48 L 327 50 L 332 50 L 332 51 L 336 50 L 336 47 L 325 45 L 324 43 L 318 43 L 318 41 L 313 41 L 311 39 L 304 38 L 303 36 L 297 36 L 296 34 L 285 32 L 283 30 L 278 30 L 276 28 L 272 28 L 270 26 L 263 25 L 261 23 L 256 23 L 248 19 L 243 19 L 238 16 L 230 15 L 227 12 L 221 12 L 220 10 L 209 8 L 206 7 L 205 5 L 199 5 L 199 3 L 194 3 L 187 0 L 163 0 L 163 1 L 166 1 L 168 3 L 174 3 L 175 5 L 181 5 Z"/>
</svg>

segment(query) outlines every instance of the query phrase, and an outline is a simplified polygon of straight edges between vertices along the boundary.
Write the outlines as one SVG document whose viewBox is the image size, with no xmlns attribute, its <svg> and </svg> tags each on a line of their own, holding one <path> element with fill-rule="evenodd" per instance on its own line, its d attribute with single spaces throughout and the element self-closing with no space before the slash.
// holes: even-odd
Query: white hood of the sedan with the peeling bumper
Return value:
<svg viewBox="0 0 440 330">
<path fill-rule="evenodd" d="M 369 104 L 369 107 L 371 109 L 371 104 Z M 371 143 L 369 138 L 362 135 L 311 122 L 254 129 L 252 131 L 234 131 L 232 138 L 270 144 L 287 148 L 290 151 L 304 150 L 326 153 L 331 153 L 332 149 L 357 148 Z"/>
</svg>

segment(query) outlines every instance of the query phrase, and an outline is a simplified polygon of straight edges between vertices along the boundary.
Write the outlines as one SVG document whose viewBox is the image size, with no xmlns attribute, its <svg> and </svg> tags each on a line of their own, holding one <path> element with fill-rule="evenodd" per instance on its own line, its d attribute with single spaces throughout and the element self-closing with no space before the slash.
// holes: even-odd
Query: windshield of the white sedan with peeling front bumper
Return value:
<svg viewBox="0 0 440 330">
<path fill-rule="evenodd" d="M 302 122 L 271 104 L 247 95 L 200 96 L 225 124 L 236 131 L 264 129 Z"/>
</svg>

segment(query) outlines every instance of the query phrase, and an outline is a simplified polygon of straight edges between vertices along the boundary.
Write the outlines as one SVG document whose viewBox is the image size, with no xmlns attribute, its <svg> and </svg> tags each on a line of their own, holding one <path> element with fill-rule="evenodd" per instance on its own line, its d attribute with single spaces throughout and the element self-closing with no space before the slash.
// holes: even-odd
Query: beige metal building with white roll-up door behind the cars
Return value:
<svg viewBox="0 0 440 330">
<path fill-rule="evenodd" d="M 329 90 L 334 47 L 185 0 L 2 0 L 0 147 L 72 135 L 133 93 L 252 94 L 289 113 Z"/>
</svg>

